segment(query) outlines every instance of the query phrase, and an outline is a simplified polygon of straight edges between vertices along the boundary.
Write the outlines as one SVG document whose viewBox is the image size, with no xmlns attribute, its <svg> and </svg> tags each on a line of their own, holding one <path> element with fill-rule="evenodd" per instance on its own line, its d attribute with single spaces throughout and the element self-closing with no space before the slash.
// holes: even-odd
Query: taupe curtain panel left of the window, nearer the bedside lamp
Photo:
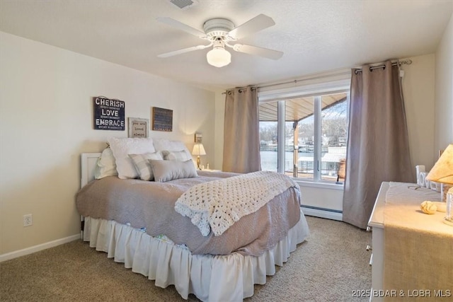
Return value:
<svg viewBox="0 0 453 302">
<path fill-rule="evenodd" d="M 225 97 L 224 161 L 226 172 L 261 170 L 256 88 L 236 88 Z"/>
</svg>

